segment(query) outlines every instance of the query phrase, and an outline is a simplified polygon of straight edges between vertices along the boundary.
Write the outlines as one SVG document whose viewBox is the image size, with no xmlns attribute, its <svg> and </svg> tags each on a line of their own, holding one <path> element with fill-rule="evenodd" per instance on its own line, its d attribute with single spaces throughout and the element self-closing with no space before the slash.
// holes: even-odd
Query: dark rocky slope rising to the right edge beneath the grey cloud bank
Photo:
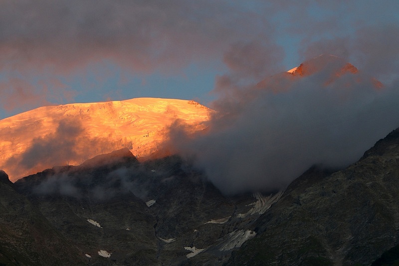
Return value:
<svg viewBox="0 0 399 266">
<path fill-rule="evenodd" d="M 398 243 L 398 163 L 395 130 L 345 170 L 305 173 L 228 265 L 370 265 Z"/>
</svg>

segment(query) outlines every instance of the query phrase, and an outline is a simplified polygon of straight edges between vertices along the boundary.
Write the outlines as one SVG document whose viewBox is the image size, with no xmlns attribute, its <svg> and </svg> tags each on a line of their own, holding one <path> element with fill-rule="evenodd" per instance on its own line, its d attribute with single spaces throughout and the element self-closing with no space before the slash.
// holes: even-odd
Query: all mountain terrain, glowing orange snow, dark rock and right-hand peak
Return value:
<svg viewBox="0 0 399 266">
<path fill-rule="evenodd" d="M 359 72 L 322 55 L 281 76 L 324 66 L 325 84 Z M 0 265 L 398 265 L 399 129 L 349 166 L 225 195 L 195 158 L 159 148 L 176 120 L 206 134 L 214 113 L 138 98 L 0 120 Z"/>
</svg>

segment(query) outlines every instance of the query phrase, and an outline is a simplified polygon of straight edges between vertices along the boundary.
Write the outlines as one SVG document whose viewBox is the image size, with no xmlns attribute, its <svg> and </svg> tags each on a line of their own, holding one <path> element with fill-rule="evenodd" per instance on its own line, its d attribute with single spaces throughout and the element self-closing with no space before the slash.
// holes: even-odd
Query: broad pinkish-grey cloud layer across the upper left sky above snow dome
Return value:
<svg viewBox="0 0 399 266">
<path fill-rule="evenodd" d="M 3 0 L 0 24 L 0 78 L 8 82 L 0 91 L 11 91 L 7 98 L 13 98 L 7 110 L 26 103 L 18 101 L 20 86 L 9 82 L 14 78 L 37 96 L 31 105 L 43 104 L 43 98 L 65 102 L 74 95 L 65 79 L 90 71 L 100 78 L 98 65 L 115 64 L 132 75 L 182 73 L 193 63 L 220 65 L 231 46 L 257 48 L 251 43 L 268 39 L 272 31 L 261 14 L 210 0 Z"/>
</svg>

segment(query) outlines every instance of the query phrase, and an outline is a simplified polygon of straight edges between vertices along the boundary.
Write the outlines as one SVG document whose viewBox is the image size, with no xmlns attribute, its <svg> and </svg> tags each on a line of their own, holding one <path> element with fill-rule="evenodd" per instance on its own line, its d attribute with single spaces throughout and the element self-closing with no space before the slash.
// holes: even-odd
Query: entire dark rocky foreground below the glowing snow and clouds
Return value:
<svg viewBox="0 0 399 266">
<path fill-rule="evenodd" d="M 0 265 L 395 262 L 398 164 L 396 130 L 275 194 L 226 197 L 178 156 L 139 163 L 127 149 L 14 184 L 1 172 Z"/>
</svg>

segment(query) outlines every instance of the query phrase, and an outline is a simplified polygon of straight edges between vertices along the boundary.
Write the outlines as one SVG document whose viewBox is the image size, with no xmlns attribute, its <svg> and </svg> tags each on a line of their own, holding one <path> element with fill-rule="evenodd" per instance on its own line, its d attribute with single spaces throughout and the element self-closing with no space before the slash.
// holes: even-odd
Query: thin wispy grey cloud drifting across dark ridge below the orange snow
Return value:
<svg viewBox="0 0 399 266">
<path fill-rule="evenodd" d="M 119 164 L 95 164 L 71 167 L 67 171 L 53 168 L 51 174 L 32 184 L 32 193 L 89 197 L 93 200 L 109 200 L 132 193 L 143 201 L 147 199 L 150 184 L 154 183 L 154 173 L 149 169 L 135 163 L 127 164 L 123 160 Z M 157 177 L 163 174 L 157 173 Z"/>
</svg>

